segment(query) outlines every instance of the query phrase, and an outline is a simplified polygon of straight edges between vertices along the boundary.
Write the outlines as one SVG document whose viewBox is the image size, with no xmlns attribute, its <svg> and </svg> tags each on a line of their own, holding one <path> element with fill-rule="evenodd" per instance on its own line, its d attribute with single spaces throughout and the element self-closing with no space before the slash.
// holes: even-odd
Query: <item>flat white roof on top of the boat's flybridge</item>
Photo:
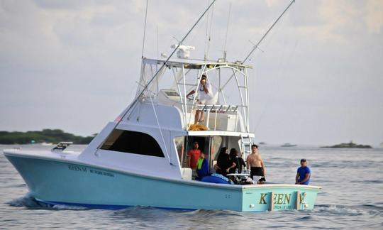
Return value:
<svg viewBox="0 0 383 230">
<path fill-rule="evenodd" d="M 162 65 L 166 62 L 165 59 L 150 59 L 150 58 L 143 58 L 143 63 L 145 64 L 157 64 Z M 171 60 L 168 60 L 166 63 L 167 67 L 184 67 L 185 69 L 201 69 L 204 66 L 207 67 L 221 67 L 221 66 L 230 66 L 235 67 L 238 69 L 243 68 L 250 68 L 252 69 L 251 65 L 243 65 L 243 63 L 238 60 L 235 62 L 227 62 L 226 60 L 219 59 L 218 61 L 211 61 L 211 60 L 196 60 L 196 59 L 182 59 L 182 58 L 172 58 Z"/>
</svg>

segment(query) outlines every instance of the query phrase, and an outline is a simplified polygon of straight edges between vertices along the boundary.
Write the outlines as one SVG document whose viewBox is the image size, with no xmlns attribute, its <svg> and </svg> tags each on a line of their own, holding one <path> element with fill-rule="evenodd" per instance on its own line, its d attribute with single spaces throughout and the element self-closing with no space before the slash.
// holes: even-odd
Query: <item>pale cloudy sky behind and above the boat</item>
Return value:
<svg viewBox="0 0 383 230">
<path fill-rule="evenodd" d="M 150 0 L 144 56 L 170 54 L 208 3 Z M 243 60 L 289 3 L 216 1 L 191 57 L 209 20 L 209 59 Z M 89 136 L 113 121 L 135 96 L 145 4 L 0 0 L 0 130 Z M 297 0 L 247 62 L 255 142 L 379 146 L 382 60 L 383 1 Z"/>
</svg>

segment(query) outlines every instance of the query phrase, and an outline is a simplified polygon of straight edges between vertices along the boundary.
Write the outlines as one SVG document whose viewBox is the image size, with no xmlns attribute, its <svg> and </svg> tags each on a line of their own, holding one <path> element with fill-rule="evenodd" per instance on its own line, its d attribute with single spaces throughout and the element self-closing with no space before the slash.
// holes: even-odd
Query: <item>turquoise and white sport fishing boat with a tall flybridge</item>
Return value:
<svg viewBox="0 0 383 230">
<path fill-rule="evenodd" d="M 30 196 L 49 205 L 101 209 L 313 209 L 317 186 L 193 180 L 187 153 L 195 141 L 211 169 L 224 146 L 238 149 L 244 158 L 250 154 L 251 66 L 226 59 L 191 60 L 181 43 L 174 49 L 177 58 L 143 57 L 135 99 L 82 152 L 65 150 L 70 143 L 52 150 L 4 150 Z M 202 76 L 213 89 L 205 104 L 197 101 Z M 197 111 L 205 119 L 195 125 Z"/>
</svg>

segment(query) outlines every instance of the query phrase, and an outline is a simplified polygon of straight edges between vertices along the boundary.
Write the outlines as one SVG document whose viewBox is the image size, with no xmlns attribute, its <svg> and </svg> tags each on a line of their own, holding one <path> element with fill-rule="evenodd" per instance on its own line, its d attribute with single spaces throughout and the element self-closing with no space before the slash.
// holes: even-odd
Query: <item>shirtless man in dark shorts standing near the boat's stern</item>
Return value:
<svg viewBox="0 0 383 230">
<path fill-rule="evenodd" d="M 250 178 L 253 179 L 254 176 L 261 176 L 260 180 L 258 180 L 258 183 L 263 184 L 266 181 L 266 171 L 265 165 L 263 165 L 262 157 L 260 153 L 258 153 L 258 146 L 252 145 L 251 151 L 252 153 L 246 159 L 248 170 L 250 168 Z"/>
</svg>

